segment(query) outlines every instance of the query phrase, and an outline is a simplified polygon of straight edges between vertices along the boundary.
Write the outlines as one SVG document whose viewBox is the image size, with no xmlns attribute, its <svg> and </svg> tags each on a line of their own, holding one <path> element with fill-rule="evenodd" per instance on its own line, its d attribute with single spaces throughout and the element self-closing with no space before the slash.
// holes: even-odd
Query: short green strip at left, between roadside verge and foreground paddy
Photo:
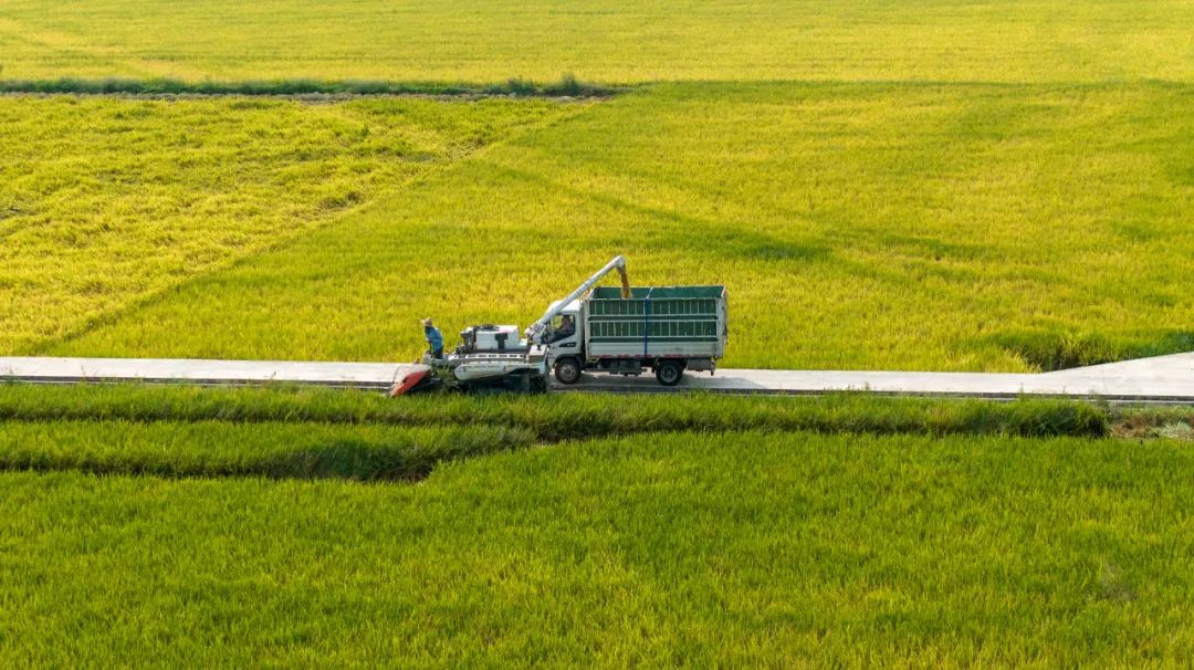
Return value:
<svg viewBox="0 0 1194 670">
<path fill-rule="evenodd" d="M 0 422 L 0 469 L 417 481 L 442 461 L 534 443 L 511 428 Z"/>
</svg>

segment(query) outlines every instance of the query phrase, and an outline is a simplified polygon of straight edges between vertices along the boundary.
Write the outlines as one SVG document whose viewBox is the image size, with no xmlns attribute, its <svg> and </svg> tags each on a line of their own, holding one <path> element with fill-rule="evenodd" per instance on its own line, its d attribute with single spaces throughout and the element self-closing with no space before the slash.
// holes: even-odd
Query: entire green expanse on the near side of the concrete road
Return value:
<svg viewBox="0 0 1194 670">
<path fill-rule="evenodd" d="M 1190 443 L 1089 405 L 7 387 L 0 416 L 17 665 L 1194 653 Z"/>
</svg>

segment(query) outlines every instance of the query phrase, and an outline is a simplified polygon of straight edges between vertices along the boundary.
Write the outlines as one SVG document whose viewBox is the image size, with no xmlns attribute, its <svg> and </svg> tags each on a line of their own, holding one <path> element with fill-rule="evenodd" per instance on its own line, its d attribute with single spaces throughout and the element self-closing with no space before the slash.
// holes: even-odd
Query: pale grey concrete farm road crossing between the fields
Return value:
<svg viewBox="0 0 1194 670">
<path fill-rule="evenodd" d="M 246 385 L 296 383 L 386 389 L 413 369 L 400 363 L 205 361 L 190 358 L 0 357 L 0 381 Z M 843 391 L 887 395 L 1010 399 L 1020 395 L 1194 405 L 1194 352 L 1040 374 L 901 373 L 721 369 L 689 373 L 675 388 L 653 376 L 585 375 L 558 391 L 734 394 L 820 394 Z"/>
</svg>

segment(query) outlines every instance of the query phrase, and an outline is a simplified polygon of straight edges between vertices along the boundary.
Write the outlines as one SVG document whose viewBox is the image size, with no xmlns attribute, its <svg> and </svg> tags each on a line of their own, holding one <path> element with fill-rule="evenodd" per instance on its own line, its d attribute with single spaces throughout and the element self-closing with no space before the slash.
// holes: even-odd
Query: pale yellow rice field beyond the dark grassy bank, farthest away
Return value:
<svg viewBox="0 0 1194 670">
<path fill-rule="evenodd" d="M 1186 0 L 8 0 L 0 76 L 1190 81 L 1192 25 Z"/>
</svg>

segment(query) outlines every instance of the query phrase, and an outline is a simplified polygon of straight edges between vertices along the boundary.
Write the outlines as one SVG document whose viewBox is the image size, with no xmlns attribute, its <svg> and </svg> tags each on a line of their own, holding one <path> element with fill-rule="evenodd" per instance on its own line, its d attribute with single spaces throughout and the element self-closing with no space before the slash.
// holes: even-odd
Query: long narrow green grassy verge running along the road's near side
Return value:
<svg viewBox="0 0 1194 670">
<path fill-rule="evenodd" d="M 1087 402 L 825 395 L 430 395 L 392 400 L 327 389 L 0 385 L 0 419 L 24 422 L 315 422 L 505 426 L 536 440 L 638 432 L 812 430 L 849 434 L 1103 436 L 1108 411 Z"/>
</svg>

